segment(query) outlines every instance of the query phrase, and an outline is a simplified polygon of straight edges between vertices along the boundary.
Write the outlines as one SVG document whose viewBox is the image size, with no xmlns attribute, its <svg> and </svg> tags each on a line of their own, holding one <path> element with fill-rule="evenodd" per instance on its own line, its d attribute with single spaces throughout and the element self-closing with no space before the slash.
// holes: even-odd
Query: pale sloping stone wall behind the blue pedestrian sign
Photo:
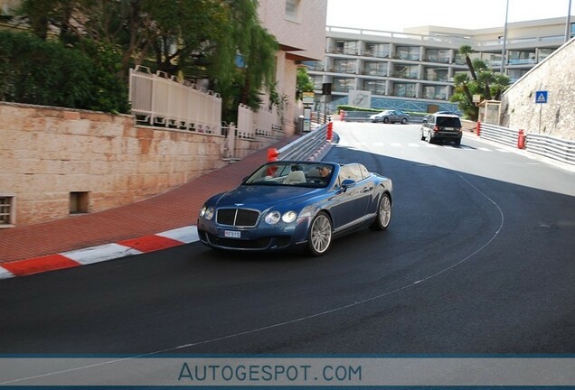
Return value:
<svg viewBox="0 0 575 390">
<path fill-rule="evenodd" d="M 502 125 L 526 133 L 575 140 L 575 39 L 530 70 L 502 97 Z M 548 91 L 548 103 L 535 92 Z"/>
</svg>

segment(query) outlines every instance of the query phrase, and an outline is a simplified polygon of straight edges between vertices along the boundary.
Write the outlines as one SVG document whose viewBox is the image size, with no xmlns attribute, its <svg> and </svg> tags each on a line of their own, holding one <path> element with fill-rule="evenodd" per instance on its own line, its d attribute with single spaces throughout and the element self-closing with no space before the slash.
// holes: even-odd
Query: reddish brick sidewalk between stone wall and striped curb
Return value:
<svg viewBox="0 0 575 390">
<path fill-rule="evenodd" d="M 282 140 L 273 147 L 280 148 L 295 139 L 297 135 Z M 205 200 L 218 192 L 236 187 L 243 177 L 262 163 L 266 163 L 266 159 L 267 149 L 263 149 L 237 163 L 226 165 L 148 200 L 94 214 L 63 218 L 22 228 L 2 229 L 0 279 L 68 267 L 67 260 L 56 255 L 62 252 L 122 241 L 137 243 L 138 237 L 195 225 Z M 156 237 L 156 241 L 163 241 L 156 242 L 156 246 L 173 246 L 169 238 Z M 38 258 L 42 258 L 43 263 L 56 262 L 59 265 L 38 267 L 35 265 L 38 263 L 36 261 Z M 25 264 L 28 265 L 21 267 Z M 31 267 L 33 264 L 36 268 Z M 70 266 L 75 265 L 79 264 Z M 19 272 L 20 268 L 29 270 Z M 9 272 L 6 273 L 5 269 Z"/>
</svg>

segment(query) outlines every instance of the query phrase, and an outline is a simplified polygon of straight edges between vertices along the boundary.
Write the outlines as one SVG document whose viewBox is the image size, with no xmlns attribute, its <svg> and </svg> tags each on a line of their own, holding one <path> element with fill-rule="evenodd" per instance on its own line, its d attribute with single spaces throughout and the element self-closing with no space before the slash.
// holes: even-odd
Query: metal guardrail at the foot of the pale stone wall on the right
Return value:
<svg viewBox="0 0 575 390">
<path fill-rule="evenodd" d="M 551 135 L 523 135 L 522 130 L 484 123 L 479 124 L 479 136 L 507 146 L 524 147 L 524 150 L 529 153 L 575 165 L 575 141 L 564 140 Z M 523 136 L 524 144 L 520 139 Z"/>
</svg>

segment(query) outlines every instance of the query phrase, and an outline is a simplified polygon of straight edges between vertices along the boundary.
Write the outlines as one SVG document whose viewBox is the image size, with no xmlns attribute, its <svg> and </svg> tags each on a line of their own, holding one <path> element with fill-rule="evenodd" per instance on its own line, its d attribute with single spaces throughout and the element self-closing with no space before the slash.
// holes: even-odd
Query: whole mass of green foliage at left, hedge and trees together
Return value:
<svg viewBox="0 0 575 390">
<path fill-rule="evenodd" d="M 18 15 L 38 40 L 14 52 L 1 43 L 5 100 L 127 112 L 128 71 L 141 64 L 208 79 L 226 119 L 239 103 L 258 108 L 262 89 L 277 92 L 278 42 L 257 0 L 23 0 Z"/>
</svg>

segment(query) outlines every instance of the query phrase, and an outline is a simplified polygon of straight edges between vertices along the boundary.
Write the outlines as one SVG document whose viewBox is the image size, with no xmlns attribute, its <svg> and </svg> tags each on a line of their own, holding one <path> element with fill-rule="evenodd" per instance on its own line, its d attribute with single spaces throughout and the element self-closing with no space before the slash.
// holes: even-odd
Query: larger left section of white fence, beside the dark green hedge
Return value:
<svg viewBox="0 0 575 390">
<path fill-rule="evenodd" d="M 129 100 L 139 122 L 222 134 L 222 98 L 164 72 L 152 74 L 142 66 L 130 70 Z"/>
</svg>

